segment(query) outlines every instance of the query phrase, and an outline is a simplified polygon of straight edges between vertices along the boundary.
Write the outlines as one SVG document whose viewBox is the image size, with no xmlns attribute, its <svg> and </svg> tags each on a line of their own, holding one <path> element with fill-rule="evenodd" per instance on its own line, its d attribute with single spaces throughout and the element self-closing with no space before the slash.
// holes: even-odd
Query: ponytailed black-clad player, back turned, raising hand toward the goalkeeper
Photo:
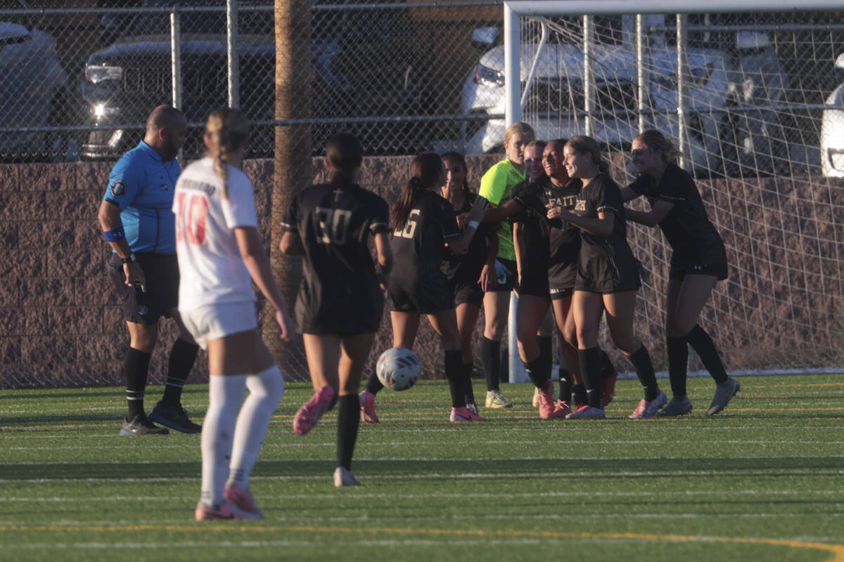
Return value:
<svg viewBox="0 0 844 562">
<path fill-rule="evenodd" d="M 454 295 L 441 265 L 446 251 L 466 253 L 489 203 L 480 195 L 476 197 L 468 224 L 461 233 L 451 203 L 436 193 L 445 178 L 440 156 L 419 154 L 410 164 L 410 172 L 411 178 L 390 215 L 396 272 L 387 286 L 392 302 L 392 345 L 413 349 L 419 315 L 425 314 L 440 335 L 445 350 L 446 378 L 452 393 L 450 419 L 484 420 L 466 408 L 463 351 Z M 370 409 L 375 412 L 374 394 L 381 385 L 373 378 L 377 377 L 370 377 L 360 397 L 364 415 Z"/>
</svg>

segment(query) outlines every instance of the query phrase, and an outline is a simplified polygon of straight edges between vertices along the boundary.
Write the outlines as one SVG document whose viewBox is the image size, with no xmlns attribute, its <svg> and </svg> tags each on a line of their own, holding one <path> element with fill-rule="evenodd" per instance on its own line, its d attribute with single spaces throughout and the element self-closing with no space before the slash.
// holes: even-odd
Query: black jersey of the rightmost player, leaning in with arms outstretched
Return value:
<svg viewBox="0 0 844 562">
<path fill-rule="evenodd" d="M 668 163 L 658 185 L 648 176 L 641 175 L 629 187 L 639 195 L 645 195 L 651 205 L 656 201 L 674 204 L 659 222 L 659 227 L 675 256 L 698 265 L 727 263 L 724 243 L 706 215 L 701 193 L 688 172 L 675 163 Z"/>
</svg>

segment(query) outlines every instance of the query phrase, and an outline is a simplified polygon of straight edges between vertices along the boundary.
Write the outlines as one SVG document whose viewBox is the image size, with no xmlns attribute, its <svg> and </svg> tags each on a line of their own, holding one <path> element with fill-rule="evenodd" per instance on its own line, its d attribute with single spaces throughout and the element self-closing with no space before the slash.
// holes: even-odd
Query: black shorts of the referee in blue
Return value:
<svg viewBox="0 0 844 562">
<path fill-rule="evenodd" d="M 123 262 L 117 254 L 111 254 L 108 262 L 117 296 L 123 306 L 123 319 L 133 324 L 151 325 L 179 306 L 179 262 L 176 254 L 151 254 L 136 252 L 138 265 L 143 270 L 146 291 L 139 286 L 127 286 L 124 282 Z"/>
</svg>

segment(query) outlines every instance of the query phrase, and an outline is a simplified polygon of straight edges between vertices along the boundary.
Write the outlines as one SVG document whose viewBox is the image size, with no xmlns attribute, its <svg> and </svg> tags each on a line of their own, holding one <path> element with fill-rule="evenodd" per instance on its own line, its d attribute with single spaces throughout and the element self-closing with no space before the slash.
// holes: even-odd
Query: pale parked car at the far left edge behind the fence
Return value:
<svg viewBox="0 0 844 562">
<path fill-rule="evenodd" d="M 27 6 L 22 0 L 0 0 L 0 8 Z M 37 129 L 68 125 L 72 115 L 56 40 L 25 16 L 0 21 L 0 126 L 21 130 L 0 134 L 0 160 L 65 160 L 73 150 L 68 132 Z"/>
</svg>

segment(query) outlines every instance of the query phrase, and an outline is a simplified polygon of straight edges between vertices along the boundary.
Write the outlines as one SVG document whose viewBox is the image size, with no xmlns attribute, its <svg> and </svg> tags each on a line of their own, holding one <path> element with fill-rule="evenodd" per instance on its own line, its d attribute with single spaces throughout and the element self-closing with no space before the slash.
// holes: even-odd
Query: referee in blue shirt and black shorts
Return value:
<svg viewBox="0 0 844 562">
<path fill-rule="evenodd" d="M 100 202 L 100 225 L 114 249 L 109 275 L 121 299 L 130 338 L 125 359 L 128 411 L 120 430 L 122 436 L 169 433 L 150 419 L 176 431 L 202 431 L 181 407 L 181 388 L 198 351 L 176 312 L 179 269 L 176 220 L 171 209 L 176 179 L 181 174 L 176 154 L 186 131 L 187 120 L 180 110 L 168 105 L 156 107 L 147 119 L 143 141 L 111 169 L 106 195 Z M 143 391 L 161 316 L 176 321 L 179 337 L 170 350 L 164 396 L 148 419 Z"/>
</svg>

